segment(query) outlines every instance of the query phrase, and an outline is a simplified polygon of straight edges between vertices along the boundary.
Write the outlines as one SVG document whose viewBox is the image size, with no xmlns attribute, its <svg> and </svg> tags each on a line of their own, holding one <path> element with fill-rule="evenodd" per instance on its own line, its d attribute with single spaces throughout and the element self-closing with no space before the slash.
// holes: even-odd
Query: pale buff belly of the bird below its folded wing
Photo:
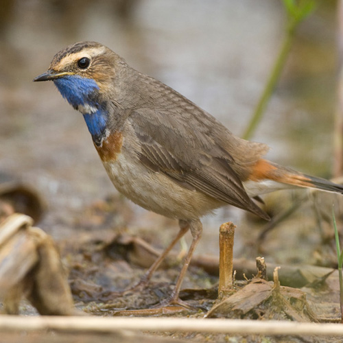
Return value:
<svg viewBox="0 0 343 343">
<path fill-rule="evenodd" d="M 113 185 L 124 196 L 144 209 L 176 219 L 197 219 L 225 203 L 204 193 L 185 189 L 167 176 L 142 165 L 135 156 L 117 155 L 104 162 Z"/>
</svg>

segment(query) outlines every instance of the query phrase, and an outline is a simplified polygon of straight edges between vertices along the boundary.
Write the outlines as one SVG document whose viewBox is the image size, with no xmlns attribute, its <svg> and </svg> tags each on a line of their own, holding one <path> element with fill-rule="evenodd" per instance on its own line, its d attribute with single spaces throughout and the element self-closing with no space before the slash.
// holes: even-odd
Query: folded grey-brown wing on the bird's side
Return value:
<svg viewBox="0 0 343 343">
<path fill-rule="evenodd" d="M 185 117 L 150 109 L 134 111 L 130 122 L 139 139 L 139 158 L 148 168 L 161 172 L 182 187 L 201 191 L 241 209 L 268 218 L 246 193 L 231 165 L 233 157 L 217 144 L 211 134 L 219 125 L 220 134 L 229 134 L 224 126 L 209 117 L 185 121 Z M 193 121 L 193 122 L 192 122 Z"/>
</svg>

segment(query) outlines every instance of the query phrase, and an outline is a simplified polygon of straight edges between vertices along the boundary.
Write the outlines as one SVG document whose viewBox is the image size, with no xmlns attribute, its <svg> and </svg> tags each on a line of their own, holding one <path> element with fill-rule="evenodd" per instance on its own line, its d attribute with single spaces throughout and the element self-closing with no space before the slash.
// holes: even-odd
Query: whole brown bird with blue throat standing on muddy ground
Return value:
<svg viewBox="0 0 343 343">
<path fill-rule="evenodd" d="M 178 235 L 140 285 L 191 230 L 191 246 L 165 303 L 181 303 L 180 286 L 202 235 L 203 215 L 230 204 L 269 220 L 253 200 L 263 193 L 292 187 L 343 193 L 341 185 L 265 160 L 267 145 L 236 137 L 189 99 L 99 43 L 75 43 L 58 52 L 48 71 L 34 79 L 47 80 L 82 113 L 117 190 L 179 222 Z"/>
</svg>

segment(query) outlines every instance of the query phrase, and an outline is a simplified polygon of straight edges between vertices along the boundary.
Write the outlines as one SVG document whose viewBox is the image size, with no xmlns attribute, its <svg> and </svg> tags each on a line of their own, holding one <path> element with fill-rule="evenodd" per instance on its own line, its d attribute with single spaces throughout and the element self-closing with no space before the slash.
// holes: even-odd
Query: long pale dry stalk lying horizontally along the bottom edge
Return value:
<svg viewBox="0 0 343 343">
<path fill-rule="evenodd" d="M 0 316 L 0 331 L 82 331 L 115 333 L 131 331 L 176 331 L 241 335 L 342 336 L 343 325 L 279 320 L 233 320 L 198 318 L 102 318 Z"/>
</svg>

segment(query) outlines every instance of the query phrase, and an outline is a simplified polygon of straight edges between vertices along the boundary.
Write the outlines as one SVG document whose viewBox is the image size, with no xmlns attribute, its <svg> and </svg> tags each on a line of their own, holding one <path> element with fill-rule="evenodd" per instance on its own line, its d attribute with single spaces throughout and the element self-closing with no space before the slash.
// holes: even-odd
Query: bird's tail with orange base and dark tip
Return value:
<svg viewBox="0 0 343 343">
<path fill-rule="evenodd" d="M 263 158 L 257 161 L 252 167 L 247 181 L 244 183 L 247 183 L 250 188 L 252 188 L 251 185 L 255 184 L 256 189 L 258 185 L 258 188 L 261 189 L 260 194 L 275 191 L 276 189 L 294 187 L 314 188 L 343 194 L 342 185 L 325 180 L 324 178 L 317 178 L 316 176 L 300 173 L 299 171 L 277 165 Z"/>
</svg>

